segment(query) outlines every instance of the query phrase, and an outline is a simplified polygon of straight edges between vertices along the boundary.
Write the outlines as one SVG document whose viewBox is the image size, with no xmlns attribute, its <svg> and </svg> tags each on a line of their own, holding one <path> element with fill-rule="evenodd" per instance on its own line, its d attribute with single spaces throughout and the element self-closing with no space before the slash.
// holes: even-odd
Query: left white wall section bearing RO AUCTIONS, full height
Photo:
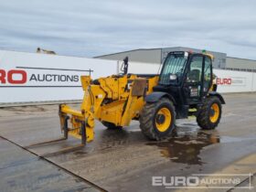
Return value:
<svg viewBox="0 0 256 192">
<path fill-rule="evenodd" d="M 0 51 L 0 104 L 81 100 L 81 75 L 97 79 L 116 72 L 112 60 Z"/>
</svg>

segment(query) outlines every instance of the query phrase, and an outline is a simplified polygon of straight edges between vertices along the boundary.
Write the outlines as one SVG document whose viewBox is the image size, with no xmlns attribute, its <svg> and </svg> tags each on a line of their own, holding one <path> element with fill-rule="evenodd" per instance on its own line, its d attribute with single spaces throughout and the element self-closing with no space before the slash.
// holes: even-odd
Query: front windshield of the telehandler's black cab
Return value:
<svg viewBox="0 0 256 192">
<path fill-rule="evenodd" d="M 170 84 L 170 75 L 174 74 L 177 76 L 177 82 L 181 80 L 183 71 L 185 69 L 185 63 L 187 57 L 184 57 L 184 53 L 170 54 L 165 59 L 165 63 L 160 75 L 160 84 Z"/>
</svg>

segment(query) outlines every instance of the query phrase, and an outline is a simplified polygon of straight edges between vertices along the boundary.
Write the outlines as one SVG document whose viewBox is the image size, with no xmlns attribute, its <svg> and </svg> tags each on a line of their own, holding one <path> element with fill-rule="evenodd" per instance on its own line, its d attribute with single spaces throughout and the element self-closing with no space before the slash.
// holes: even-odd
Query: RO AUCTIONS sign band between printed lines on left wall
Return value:
<svg viewBox="0 0 256 192">
<path fill-rule="evenodd" d="M 17 66 L 0 69 L 3 87 L 80 87 L 80 75 L 89 75 L 91 69 L 55 69 Z"/>
</svg>

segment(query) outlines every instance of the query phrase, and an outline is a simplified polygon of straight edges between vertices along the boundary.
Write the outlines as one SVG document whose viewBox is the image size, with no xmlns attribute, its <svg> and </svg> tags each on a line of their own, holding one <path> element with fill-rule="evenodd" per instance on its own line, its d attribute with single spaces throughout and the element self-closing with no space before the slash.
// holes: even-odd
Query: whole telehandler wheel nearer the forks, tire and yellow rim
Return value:
<svg viewBox="0 0 256 192">
<path fill-rule="evenodd" d="M 140 128 L 149 139 L 164 139 L 175 128 L 176 112 L 172 101 L 163 98 L 146 103 L 140 116 Z"/>
</svg>

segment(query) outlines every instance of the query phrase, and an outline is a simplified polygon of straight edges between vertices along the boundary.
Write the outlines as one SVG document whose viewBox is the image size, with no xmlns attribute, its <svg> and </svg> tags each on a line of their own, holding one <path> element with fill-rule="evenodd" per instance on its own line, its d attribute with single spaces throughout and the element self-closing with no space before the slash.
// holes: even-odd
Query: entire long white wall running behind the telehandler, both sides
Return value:
<svg viewBox="0 0 256 192">
<path fill-rule="evenodd" d="M 97 79 L 120 72 L 121 66 L 122 62 L 115 60 L 0 50 L 0 105 L 11 102 L 81 100 L 83 91 L 80 75 L 88 75 L 91 69 L 92 79 Z M 129 62 L 128 72 L 155 74 L 159 67 L 159 64 Z M 8 81 L 8 71 L 16 69 L 26 72 L 27 80 L 22 84 Z M 3 71 L 6 73 L 4 78 Z M 214 69 L 214 73 L 219 78 L 219 92 L 256 91 L 256 73 L 221 69 Z M 59 80 L 60 76 L 64 80 Z M 65 80 L 68 76 L 69 80 Z M 22 80 L 23 76 L 13 74 L 11 77 L 13 80 Z"/>
</svg>

